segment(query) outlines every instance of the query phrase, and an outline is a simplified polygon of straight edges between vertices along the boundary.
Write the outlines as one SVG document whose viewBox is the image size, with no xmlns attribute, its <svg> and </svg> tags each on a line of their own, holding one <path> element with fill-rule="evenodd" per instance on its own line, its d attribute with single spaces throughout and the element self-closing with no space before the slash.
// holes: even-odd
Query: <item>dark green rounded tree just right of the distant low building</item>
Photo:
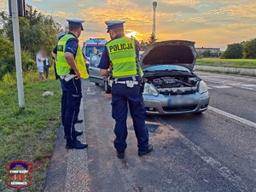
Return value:
<svg viewBox="0 0 256 192">
<path fill-rule="evenodd" d="M 241 59 L 243 57 L 242 44 L 228 44 L 227 49 L 221 55 L 222 59 Z"/>
</svg>

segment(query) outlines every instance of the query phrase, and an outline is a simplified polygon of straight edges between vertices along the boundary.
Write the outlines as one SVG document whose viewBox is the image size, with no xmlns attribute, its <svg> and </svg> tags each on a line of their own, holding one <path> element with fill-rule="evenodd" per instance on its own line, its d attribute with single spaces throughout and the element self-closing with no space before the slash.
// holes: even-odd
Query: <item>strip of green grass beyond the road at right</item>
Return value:
<svg viewBox="0 0 256 192">
<path fill-rule="evenodd" d="M 203 58 L 197 59 L 196 65 L 214 67 L 256 68 L 256 60 Z"/>
</svg>

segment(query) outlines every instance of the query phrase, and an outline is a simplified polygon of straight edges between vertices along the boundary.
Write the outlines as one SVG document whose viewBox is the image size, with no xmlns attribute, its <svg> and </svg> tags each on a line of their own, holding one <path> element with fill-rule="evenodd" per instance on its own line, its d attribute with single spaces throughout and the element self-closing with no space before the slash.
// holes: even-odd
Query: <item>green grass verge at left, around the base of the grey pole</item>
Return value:
<svg viewBox="0 0 256 192">
<path fill-rule="evenodd" d="M 43 97 L 45 91 L 54 96 Z M 38 73 L 24 74 L 25 109 L 18 105 L 14 75 L 0 81 L 0 191 L 8 190 L 4 165 L 11 160 L 33 163 L 32 186 L 26 191 L 43 191 L 46 167 L 60 125 L 61 86 L 50 68 L 49 80 L 39 81 Z"/>
</svg>

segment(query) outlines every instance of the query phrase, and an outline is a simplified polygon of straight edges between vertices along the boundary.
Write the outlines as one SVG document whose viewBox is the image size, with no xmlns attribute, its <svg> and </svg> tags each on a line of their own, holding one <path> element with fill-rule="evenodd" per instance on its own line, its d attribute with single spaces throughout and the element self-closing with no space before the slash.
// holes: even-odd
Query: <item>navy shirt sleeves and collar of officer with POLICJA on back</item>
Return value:
<svg viewBox="0 0 256 192">
<path fill-rule="evenodd" d="M 125 37 L 125 34 L 119 34 L 119 35 L 115 36 L 113 39 L 124 38 L 124 37 Z M 137 55 L 137 58 L 139 58 L 140 44 L 138 43 L 137 40 L 134 40 L 134 41 L 135 41 L 136 55 Z M 98 68 L 108 69 L 109 65 L 110 65 L 110 59 L 109 59 L 109 55 L 108 55 L 108 49 L 105 46 L 105 48 L 103 49 L 103 52 L 102 52 L 102 57 L 101 57 L 101 61 L 100 61 L 99 65 L 98 65 Z"/>
</svg>

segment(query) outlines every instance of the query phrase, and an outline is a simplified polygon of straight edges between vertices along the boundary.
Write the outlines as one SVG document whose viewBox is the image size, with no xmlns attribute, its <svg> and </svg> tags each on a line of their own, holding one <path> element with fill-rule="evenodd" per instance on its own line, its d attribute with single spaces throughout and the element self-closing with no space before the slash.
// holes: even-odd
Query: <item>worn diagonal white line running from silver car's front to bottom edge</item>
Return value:
<svg viewBox="0 0 256 192">
<path fill-rule="evenodd" d="M 155 118 L 155 121 L 162 125 L 166 125 L 169 129 L 175 130 L 171 125 L 168 125 L 166 121 L 163 119 Z M 235 172 L 231 171 L 228 167 L 223 166 L 218 160 L 214 160 L 211 156 L 207 155 L 203 148 L 193 143 L 191 140 L 189 140 L 189 138 L 184 137 L 178 131 L 177 137 L 187 148 L 189 148 L 191 151 L 197 154 L 201 158 L 201 160 L 205 161 L 209 166 L 212 166 L 212 168 L 220 175 L 230 180 L 230 183 L 236 186 L 237 189 L 239 189 L 240 191 L 247 191 L 247 188 L 241 181 L 241 177 L 236 175 Z"/>
</svg>

